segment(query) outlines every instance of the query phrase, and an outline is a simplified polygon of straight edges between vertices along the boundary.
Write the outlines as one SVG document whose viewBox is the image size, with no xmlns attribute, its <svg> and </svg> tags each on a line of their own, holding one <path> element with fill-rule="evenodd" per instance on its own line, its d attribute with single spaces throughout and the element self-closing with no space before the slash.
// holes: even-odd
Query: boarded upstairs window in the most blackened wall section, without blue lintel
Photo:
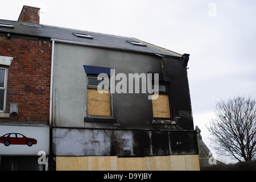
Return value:
<svg viewBox="0 0 256 182">
<path fill-rule="evenodd" d="M 154 85 L 152 88 L 154 89 Z M 166 85 L 159 85 L 159 96 L 152 100 L 154 118 L 170 118 L 170 104 Z"/>
</svg>

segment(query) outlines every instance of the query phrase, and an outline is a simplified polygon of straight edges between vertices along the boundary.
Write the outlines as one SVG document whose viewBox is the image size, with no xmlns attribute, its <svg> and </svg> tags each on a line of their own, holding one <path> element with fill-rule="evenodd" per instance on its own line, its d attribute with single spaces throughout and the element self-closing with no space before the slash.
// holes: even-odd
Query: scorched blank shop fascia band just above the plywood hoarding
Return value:
<svg viewBox="0 0 256 182">
<path fill-rule="evenodd" d="M 57 156 L 167 156 L 198 154 L 195 131 L 53 129 Z"/>
</svg>

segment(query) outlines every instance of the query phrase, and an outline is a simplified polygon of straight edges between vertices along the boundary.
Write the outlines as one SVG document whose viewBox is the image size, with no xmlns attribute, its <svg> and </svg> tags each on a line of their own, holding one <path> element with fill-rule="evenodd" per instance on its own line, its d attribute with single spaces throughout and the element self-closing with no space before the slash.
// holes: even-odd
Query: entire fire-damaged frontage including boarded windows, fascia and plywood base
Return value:
<svg viewBox="0 0 256 182">
<path fill-rule="evenodd" d="M 56 156 L 57 169 L 74 169 L 69 168 L 70 163 L 92 164 L 98 169 L 96 164 L 105 165 L 109 160 L 118 163 L 115 169 L 133 169 L 134 157 L 150 169 L 167 163 L 168 167 L 160 169 L 170 169 L 174 164 L 177 168 L 192 165 L 198 169 L 187 65 L 182 56 L 59 42 L 54 48 L 52 154 Z M 111 84 L 106 86 L 109 92 L 99 94 L 95 87 L 99 73 L 106 73 L 110 82 L 113 74 L 129 78 L 130 73 L 158 73 L 162 85 L 159 100 L 149 100 L 151 93 L 141 90 L 113 92 Z M 115 77 L 114 85 L 121 80 Z M 142 85 L 141 81 L 140 89 Z M 98 156 L 105 162 L 97 162 L 101 160 Z M 159 156 L 167 158 L 162 160 Z M 172 156 L 182 159 L 171 160 Z M 95 163 L 90 157 L 95 157 Z M 127 168 L 120 167 L 123 165 Z"/>
</svg>

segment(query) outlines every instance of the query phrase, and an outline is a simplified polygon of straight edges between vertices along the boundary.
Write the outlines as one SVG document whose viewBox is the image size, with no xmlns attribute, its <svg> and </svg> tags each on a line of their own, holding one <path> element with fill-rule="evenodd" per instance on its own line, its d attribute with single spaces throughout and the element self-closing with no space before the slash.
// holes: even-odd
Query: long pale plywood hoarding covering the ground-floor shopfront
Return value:
<svg viewBox="0 0 256 182">
<path fill-rule="evenodd" d="M 56 157 L 57 171 L 199 171 L 198 155 Z"/>
</svg>

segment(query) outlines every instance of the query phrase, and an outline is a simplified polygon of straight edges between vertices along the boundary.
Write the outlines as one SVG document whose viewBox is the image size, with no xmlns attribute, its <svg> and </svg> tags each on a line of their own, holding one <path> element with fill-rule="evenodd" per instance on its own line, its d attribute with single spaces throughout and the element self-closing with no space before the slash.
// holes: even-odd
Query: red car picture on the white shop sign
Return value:
<svg viewBox="0 0 256 182">
<path fill-rule="evenodd" d="M 27 144 L 31 147 L 33 144 L 36 144 L 37 141 L 34 138 L 27 138 L 19 133 L 8 133 L 0 138 L 0 143 L 5 144 L 5 146 L 9 146 L 10 144 Z"/>
</svg>

